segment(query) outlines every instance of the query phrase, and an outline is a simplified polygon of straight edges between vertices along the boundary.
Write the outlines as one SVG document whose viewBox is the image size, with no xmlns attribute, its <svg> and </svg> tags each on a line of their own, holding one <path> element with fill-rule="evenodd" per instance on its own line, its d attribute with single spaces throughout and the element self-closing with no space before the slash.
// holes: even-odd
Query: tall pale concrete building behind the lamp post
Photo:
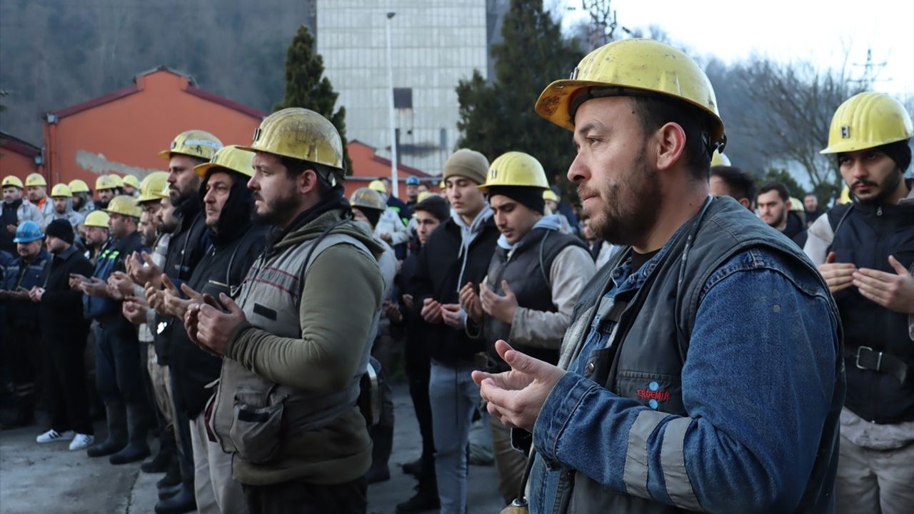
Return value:
<svg viewBox="0 0 914 514">
<path fill-rule="evenodd" d="M 503 3 L 317 0 L 317 51 L 324 57 L 324 75 L 339 93 L 337 105 L 345 106 L 346 137 L 390 156 L 389 23 L 399 162 L 440 174 L 459 135 L 455 88 L 473 70 L 487 75 L 491 9 Z M 388 12 L 396 16 L 388 20 Z"/>
</svg>

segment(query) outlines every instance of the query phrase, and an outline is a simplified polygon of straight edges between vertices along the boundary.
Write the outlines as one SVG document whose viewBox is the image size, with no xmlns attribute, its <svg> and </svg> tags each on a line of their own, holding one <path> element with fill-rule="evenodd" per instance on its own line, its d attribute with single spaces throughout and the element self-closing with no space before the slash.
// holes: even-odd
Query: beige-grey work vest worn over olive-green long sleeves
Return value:
<svg viewBox="0 0 914 514">
<path fill-rule="evenodd" d="M 299 306 L 303 278 L 321 252 L 349 244 L 354 252 L 374 256 L 367 246 L 345 234 L 304 241 L 278 256 L 261 253 L 241 285 L 238 305 L 254 327 L 280 337 L 301 337 Z M 377 327 L 379 311 L 372 322 Z M 356 405 L 359 380 L 367 368 L 376 330 L 370 330 L 356 374 L 343 391 L 318 392 L 285 386 L 223 359 L 218 390 L 210 400 L 207 421 L 227 453 L 264 464 L 279 455 L 284 434 L 320 428 Z M 207 409 L 209 410 L 209 409 Z"/>
</svg>

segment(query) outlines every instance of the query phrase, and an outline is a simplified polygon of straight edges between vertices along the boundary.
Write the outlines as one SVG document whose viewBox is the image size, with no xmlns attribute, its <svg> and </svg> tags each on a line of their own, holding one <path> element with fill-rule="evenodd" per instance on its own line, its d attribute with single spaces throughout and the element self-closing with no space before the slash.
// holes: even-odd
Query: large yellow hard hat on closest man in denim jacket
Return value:
<svg viewBox="0 0 914 514">
<path fill-rule="evenodd" d="M 707 75 L 682 51 L 653 39 L 621 39 L 581 59 L 569 80 L 556 80 L 537 100 L 537 113 L 574 130 L 575 104 L 599 96 L 656 94 L 696 106 L 711 120 L 711 143 L 723 149 L 724 122 Z M 585 96 L 579 96 L 579 93 Z"/>
</svg>

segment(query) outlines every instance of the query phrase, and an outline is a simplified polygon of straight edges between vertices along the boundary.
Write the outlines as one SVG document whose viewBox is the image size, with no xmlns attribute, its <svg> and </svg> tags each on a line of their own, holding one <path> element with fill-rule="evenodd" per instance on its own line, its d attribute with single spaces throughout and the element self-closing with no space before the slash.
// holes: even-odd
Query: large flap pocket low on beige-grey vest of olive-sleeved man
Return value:
<svg viewBox="0 0 914 514">
<path fill-rule="evenodd" d="M 264 391 L 235 391 L 228 435 L 239 457 L 254 464 L 270 462 L 280 448 L 285 398 L 271 396 Z"/>
</svg>

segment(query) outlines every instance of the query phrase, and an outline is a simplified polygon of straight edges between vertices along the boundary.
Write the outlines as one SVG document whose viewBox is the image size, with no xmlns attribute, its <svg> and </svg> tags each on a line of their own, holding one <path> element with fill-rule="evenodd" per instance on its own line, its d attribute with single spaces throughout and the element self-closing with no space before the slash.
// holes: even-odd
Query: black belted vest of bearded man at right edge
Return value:
<svg viewBox="0 0 914 514">
<path fill-rule="evenodd" d="M 828 221 L 834 230 L 831 250 L 835 262 L 853 262 L 857 268 L 896 274 L 888 263 L 888 256 L 894 255 L 911 269 L 914 204 L 847 204 L 829 210 Z M 866 299 L 856 287 L 838 291 L 834 301 L 845 328 L 847 408 L 875 423 L 914 420 L 914 342 L 908 334 L 908 316 Z M 857 368 L 860 347 L 885 352 L 907 363 L 908 380 L 902 383 L 890 373 Z"/>
</svg>

